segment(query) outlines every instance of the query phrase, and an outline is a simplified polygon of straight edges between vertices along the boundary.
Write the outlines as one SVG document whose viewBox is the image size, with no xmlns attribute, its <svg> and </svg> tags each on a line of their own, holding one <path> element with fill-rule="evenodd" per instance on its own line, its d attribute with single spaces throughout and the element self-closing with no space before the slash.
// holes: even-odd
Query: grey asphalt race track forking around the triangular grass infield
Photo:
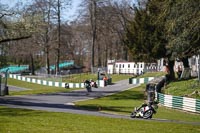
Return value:
<svg viewBox="0 0 200 133">
<path fill-rule="evenodd" d="M 81 89 L 67 93 L 52 93 L 52 94 L 38 94 L 38 95 L 25 95 L 25 96 L 1 96 L 0 105 L 4 105 L 11 108 L 25 108 L 32 110 L 44 110 L 50 112 L 68 112 L 68 113 L 94 115 L 94 116 L 102 116 L 110 118 L 144 120 L 144 119 L 130 118 L 130 115 L 118 115 L 118 114 L 103 113 L 100 111 L 89 111 L 74 106 L 74 103 L 77 101 L 112 95 L 114 93 L 128 90 L 136 86 L 137 85 L 129 84 L 128 80 L 122 80 L 103 88 L 92 88 L 92 92 L 89 93 L 86 91 L 86 89 Z M 9 86 L 9 90 L 12 91 L 22 91 L 25 89 L 26 88 Z M 146 121 L 200 125 L 200 122 L 185 122 L 185 121 L 154 119 L 154 118 Z"/>
</svg>

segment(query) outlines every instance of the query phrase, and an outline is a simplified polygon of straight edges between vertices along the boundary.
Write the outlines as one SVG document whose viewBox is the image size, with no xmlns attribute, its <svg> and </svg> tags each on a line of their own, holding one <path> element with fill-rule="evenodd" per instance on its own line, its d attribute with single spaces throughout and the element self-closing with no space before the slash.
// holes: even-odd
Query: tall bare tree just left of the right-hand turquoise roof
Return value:
<svg viewBox="0 0 200 133">
<path fill-rule="evenodd" d="M 40 32 L 37 35 L 35 43 L 41 46 L 45 53 L 45 64 L 47 74 L 50 74 L 50 51 L 53 49 L 51 42 L 51 32 L 53 31 L 53 18 L 55 11 L 53 0 L 35 0 L 28 8 L 34 15 L 39 15 L 42 20 L 38 28 Z"/>
</svg>

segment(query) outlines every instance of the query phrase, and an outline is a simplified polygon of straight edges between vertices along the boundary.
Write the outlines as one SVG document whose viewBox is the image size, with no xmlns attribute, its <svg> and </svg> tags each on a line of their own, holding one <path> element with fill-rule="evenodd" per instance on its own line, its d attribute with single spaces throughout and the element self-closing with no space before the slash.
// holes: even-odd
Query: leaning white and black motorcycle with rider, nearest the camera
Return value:
<svg viewBox="0 0 200 133">
<path fill-rule="evenodd" d="M 156 114 L 158 102 L 144 103 L 139 108 L 135 108 L 131 113 L 131 118 L 151 119 L 153 114 Z"/>
</svg>

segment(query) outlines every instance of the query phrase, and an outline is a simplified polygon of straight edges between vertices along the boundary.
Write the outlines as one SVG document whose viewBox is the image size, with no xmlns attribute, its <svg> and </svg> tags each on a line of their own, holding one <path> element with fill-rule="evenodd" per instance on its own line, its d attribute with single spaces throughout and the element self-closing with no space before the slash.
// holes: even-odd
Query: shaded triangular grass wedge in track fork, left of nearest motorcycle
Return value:
<svg viewBox="0 0 200 133">
<path fill-rule="evenodd" d="M 115 106 L 112 101 L 119 103 Z M 121 102 L 122 101 L 122 102 Z M 126 101 L 126 103 L 124 103 Z M 84 105 L 77 105 L 81 109 L 87 109 L 92 111 L 109 111 L 115 113 L 130 113 L 133 110 L 133 105 L 139 106 L 144 101 L 144 94 L 139 90 L 127 90 L 121 93 L 110 95 L 107 97 L 99 98 L 94 103 Z M 102 104 L 103 103 L 103 104 Z M 124 105 L 124 104 L 129 104 Z"/>
</svg>

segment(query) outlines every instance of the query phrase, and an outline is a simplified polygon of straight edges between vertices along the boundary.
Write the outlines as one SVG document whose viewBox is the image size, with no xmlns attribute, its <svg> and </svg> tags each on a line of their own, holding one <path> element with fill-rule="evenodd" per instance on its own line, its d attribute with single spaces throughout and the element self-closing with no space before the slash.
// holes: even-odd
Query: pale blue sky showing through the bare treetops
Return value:
<svg viewBox="0 0 200 133">
<path fill-rule="evenodd" d="M 0 0 L 1 4 L 7 4 L 10 8 L 13 8 L 17 2 L 23 2 L 24 4 L 31 0 Z M 73 20 L 76 17 L 78 5 L 82 0 L 72 0 L 72 7 L 63 12 L 62 16 L 66 16 L 67 20 Z"/>
</svg>

